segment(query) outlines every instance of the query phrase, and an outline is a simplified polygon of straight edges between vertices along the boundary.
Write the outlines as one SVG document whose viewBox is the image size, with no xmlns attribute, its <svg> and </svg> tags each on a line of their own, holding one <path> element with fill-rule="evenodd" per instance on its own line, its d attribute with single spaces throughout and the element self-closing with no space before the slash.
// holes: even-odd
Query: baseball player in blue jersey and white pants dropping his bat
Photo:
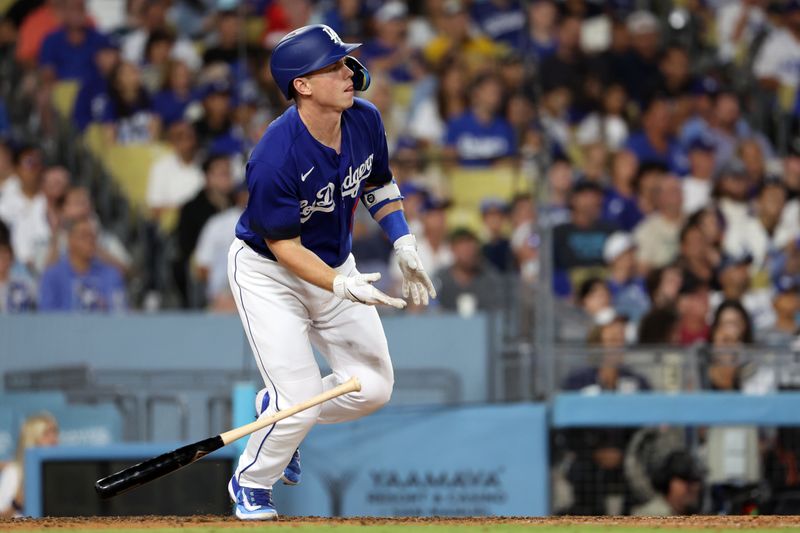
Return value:
<svg viewBox="0 0 800 533">
<path fill-rule="evenodd" d="M 277 516 L 273 484 L 299 481 L 296 450 L 314 424 L 359 418 L 391 396 L 394 374 L 374 305 L 402 309 L 406 302 L 372 285 L 380 274 L 356 269 L 350 248 L 359 200 L 394 243 L 403 296 L 415 304 L 436 297 L 389 171 L 380 114 L 354 97 L 370 79 L 348 55 L 359 46 L 317 24 L 288 34 L 270 59 L 275 82 L 295 105 L 250 156 L 250 200 L 228 254 L 228 279 L 266 385 L 256 409 L 272 415 L 350 376 L 362 389 L 251 435 L 228 484 L 245 520 Z M 312 344 L 332 369 L 324 379 Z"/>
</svg>

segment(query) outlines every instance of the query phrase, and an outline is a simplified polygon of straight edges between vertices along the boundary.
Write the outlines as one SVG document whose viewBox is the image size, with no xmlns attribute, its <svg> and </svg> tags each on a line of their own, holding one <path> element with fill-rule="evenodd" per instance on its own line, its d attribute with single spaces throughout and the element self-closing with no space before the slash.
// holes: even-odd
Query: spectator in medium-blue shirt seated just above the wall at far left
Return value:
<svg viewBox="0 0 800 533">
<path fill-rule="evenodd" d="M 97 223 L 82 217 L 68 224 L 67 252 L 44 271 L 40 311 L 123 311 L 125 284 L 119 271 L 97 257 Z"/>
</svg>

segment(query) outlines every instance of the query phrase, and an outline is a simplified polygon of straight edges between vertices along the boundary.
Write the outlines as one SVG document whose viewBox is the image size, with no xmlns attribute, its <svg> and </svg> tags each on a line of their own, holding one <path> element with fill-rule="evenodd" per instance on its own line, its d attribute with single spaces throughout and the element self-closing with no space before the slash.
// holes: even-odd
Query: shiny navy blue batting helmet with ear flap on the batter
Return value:
<svg viewBox="0 0 800 533">
<path fill-rule="evenodd" d="M 365 91 L 369 87 L 369 72 L 348 54 L 361 43 L 343 43 L 333 29 L 324 24 L 303 26 L 287 34 L 275 46 L 269 61 L 272 77 L 283 95 L 289 99 L 290 87 L 295 78 L 319 70 L 345 58 L 353 71 L 353 88 Z"/>
</svg>

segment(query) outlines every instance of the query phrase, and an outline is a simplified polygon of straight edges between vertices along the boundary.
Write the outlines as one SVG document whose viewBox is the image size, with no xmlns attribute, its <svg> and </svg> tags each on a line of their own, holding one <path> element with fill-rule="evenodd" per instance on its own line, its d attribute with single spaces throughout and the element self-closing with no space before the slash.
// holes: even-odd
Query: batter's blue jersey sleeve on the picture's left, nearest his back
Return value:
<svg viewBox="0 0 800 533">
<path fill-rule="evenodd" d="M 250 229 L 264 239 L 300 236 L 298 178 L 263 161 L 247 163 Z"/>
</svg>

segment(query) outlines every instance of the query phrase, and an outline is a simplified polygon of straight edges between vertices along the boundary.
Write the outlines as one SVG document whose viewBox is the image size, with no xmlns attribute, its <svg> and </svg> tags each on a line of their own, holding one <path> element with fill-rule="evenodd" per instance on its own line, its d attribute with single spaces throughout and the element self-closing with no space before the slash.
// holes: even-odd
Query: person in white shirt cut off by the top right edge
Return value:
<svg viewBox="0 0 800 533">
<path fill-rule="evenodd" d="M 753 62 L 753 74 L 770 91 L 800 86 L 800 1 L 787 2 L 781 20 L 784 27 L 772 31 Z"/>
</svg>

